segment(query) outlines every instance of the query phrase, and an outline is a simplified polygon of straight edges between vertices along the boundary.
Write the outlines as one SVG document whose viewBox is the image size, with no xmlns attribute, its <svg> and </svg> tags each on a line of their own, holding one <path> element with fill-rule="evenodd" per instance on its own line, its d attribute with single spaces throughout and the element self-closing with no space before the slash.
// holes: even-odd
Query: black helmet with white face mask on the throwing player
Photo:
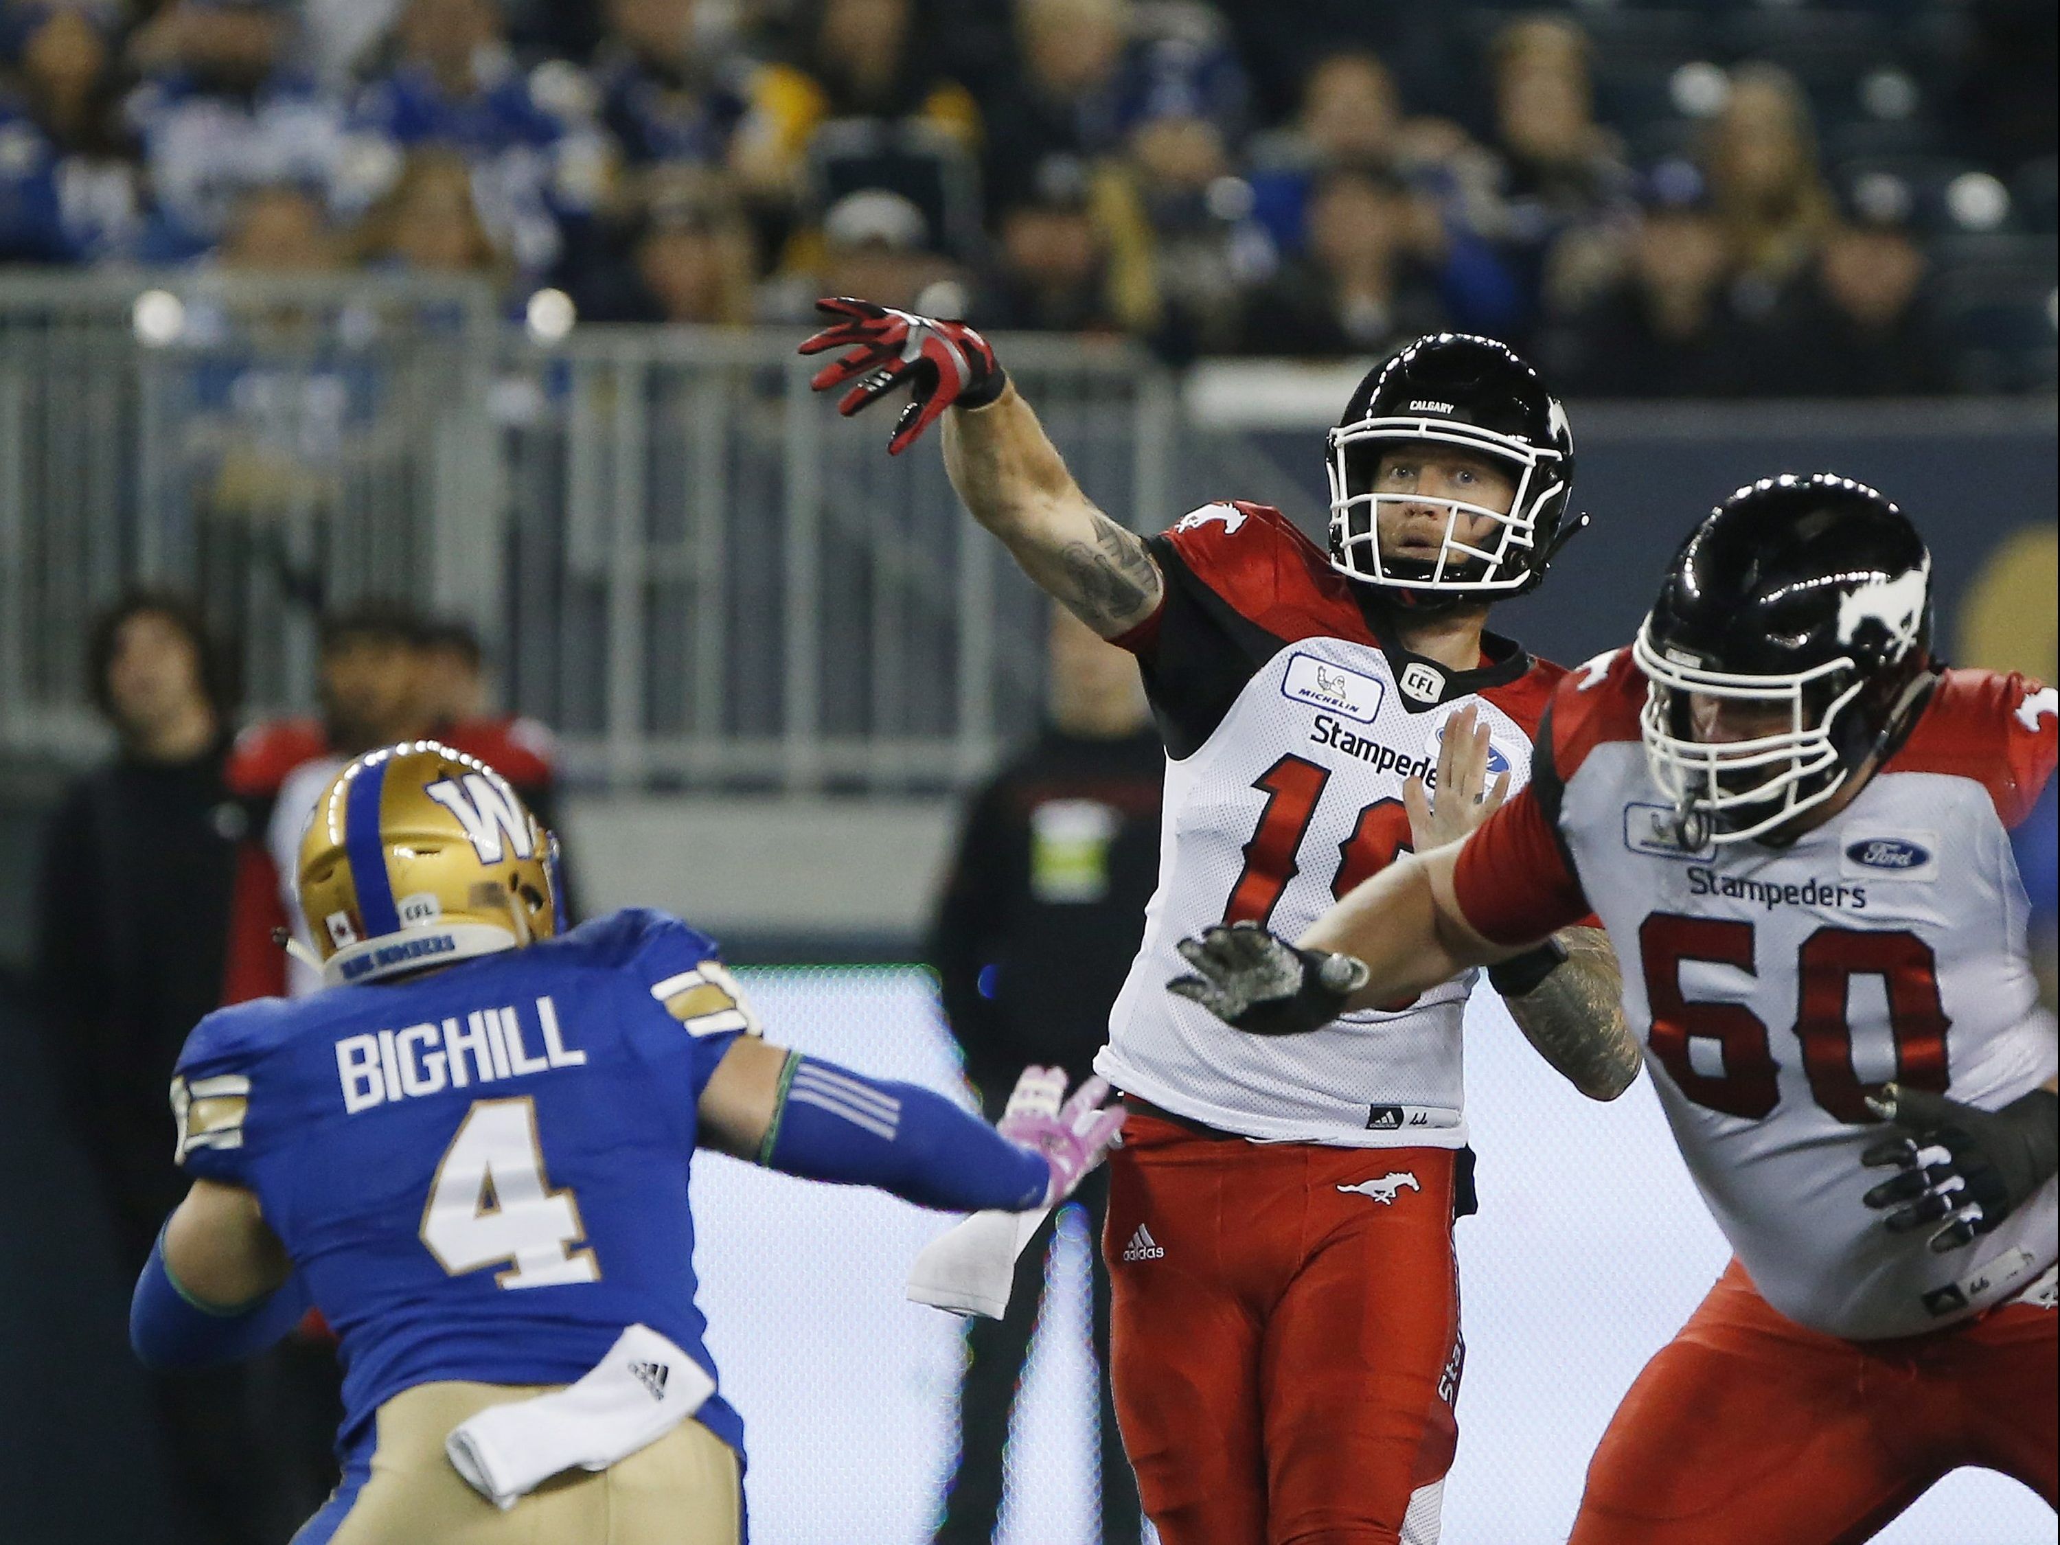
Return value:
<svg viewBox="0 0 2060 1545">
<path fill-rule="evenodd" d="M 1510 509 L 1376 492 L 1380 455 L 1421 441 L 1506 461 L 1516 474 Z M 1388 587 L 1403 606 L 1520 595 L 1586 525 L 1586 515 L 1566 519 L 1574 490 L 1574 433 L 1566 408 L 1537 371 L 1494 338 L 1452 332 L 1417 338 L 1360 381 L 1329 435 L 1329 451 L 1331 566 L 1347 579 Z M 1382 505 L 1444 505 L 1436 560 L 1380 550 Z M 1491 517 L 1494 536 L 1463 542 L 1461 515 Z"/>
</svg>

